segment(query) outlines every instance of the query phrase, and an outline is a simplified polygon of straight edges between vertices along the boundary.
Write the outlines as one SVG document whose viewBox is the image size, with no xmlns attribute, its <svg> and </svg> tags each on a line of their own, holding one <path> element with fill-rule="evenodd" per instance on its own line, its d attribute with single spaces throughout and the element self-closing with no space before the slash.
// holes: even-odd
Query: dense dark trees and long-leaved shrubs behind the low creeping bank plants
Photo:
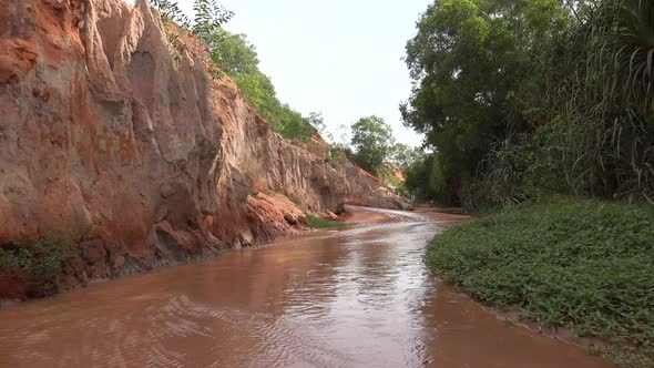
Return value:
<svg viewBox="0 0 654 368">
<path fill-rule="evenodd" d="M 435 155 L 412 190 L 468 211 L 542 191 L 654 203 L 652 54 L 652 1 L 436 1 L 407 44 L 400 110 Z"/>
</svg>

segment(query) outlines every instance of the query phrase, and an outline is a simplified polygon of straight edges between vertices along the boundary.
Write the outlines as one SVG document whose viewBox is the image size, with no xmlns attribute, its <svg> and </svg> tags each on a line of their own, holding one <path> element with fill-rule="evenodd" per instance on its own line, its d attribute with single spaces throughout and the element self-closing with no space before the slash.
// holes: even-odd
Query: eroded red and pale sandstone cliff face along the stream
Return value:
<svg viewBox="0 0 654 368">
<path fill-rule="evenodd" d="M 343 208 L 324 149 L 272 132 L 195 40 L 176 63 L 165 34 L 144 0 L 0 0 L 0 244 L 64 233 L 84 282 Z"/>
</svg>

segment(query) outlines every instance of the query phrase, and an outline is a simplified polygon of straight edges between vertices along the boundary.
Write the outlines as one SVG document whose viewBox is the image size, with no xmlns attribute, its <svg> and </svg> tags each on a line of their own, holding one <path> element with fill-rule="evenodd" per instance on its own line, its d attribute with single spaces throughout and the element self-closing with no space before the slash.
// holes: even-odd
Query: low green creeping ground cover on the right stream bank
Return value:
<svg viewBox="0 0 654 368">
<path fill-rule="evenodd" d="M 438 235 L 427 263 L 482 301 L 602 336 L 622 347 L 619 360 L 645 361 L 627 366 L 654 361 L 652 207 L 561 197 L 522 204 Z"/>
</svg>

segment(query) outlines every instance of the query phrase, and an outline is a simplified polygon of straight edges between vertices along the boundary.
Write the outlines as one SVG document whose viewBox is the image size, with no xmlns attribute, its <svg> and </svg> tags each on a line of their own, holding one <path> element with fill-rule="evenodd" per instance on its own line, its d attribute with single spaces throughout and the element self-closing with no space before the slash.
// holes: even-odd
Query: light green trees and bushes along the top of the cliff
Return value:
<svg viewBox="0 0 654 368">
<path fill-rule="evenodd" d="M 304 143 L 315 134 L 334 140 L 326 130 L 320 113 L 311 112 L 308 116 L 303 116 L 277 99 L 273 81 L 259 70 L 256 48 L 247 41 L 245 34 L 232 34 L 222 27 L 234 17 L 234 13 L 219 6 L 217 0 L 194 0 L 193 22 L 180 10 L 175 1 L 151 1 L 164 23 L 177 23 L 182 29 L 190 30 L 207 47 L 215 76 L 221 76 L 223 72 L 229 75 L 249 103 L 270 123 L 273 131 L 285 139 Z M 180 34 L 175 30 L 166 27 L 166 34 L 173 59 L 178 63 L 182 54 L 188 50 L 180 41 Z M 333 150 L 330 163 L 334 167 L 343 166 L 346 157 L 351 157 L 359 166 L 379 175 L 382 174 L 380 170 L 385 162 L 394 161 L 405 167 L 417 152 L 406 145 L 395 145 L 390 126 L 378 116 L 361 117 L 352 125 L 352 132 L 351 142 L 341 139 L 343 142 Z M 352 145 L 356 153 L 351 153 L 348 144 Z"/>
</svg>

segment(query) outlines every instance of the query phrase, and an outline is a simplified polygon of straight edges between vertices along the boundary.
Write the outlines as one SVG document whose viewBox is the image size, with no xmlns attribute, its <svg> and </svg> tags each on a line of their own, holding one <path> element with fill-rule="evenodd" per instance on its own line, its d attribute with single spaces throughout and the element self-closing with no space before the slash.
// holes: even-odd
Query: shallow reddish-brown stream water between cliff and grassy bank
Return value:
<svg viewBox="0 0 654 368">
<path fill-rule="evenodd" d="M 0 366 L 612 367 L 437 282 L 425 245 L 452 222 L 408 218 L 2 309 Z"/>
</svg>

